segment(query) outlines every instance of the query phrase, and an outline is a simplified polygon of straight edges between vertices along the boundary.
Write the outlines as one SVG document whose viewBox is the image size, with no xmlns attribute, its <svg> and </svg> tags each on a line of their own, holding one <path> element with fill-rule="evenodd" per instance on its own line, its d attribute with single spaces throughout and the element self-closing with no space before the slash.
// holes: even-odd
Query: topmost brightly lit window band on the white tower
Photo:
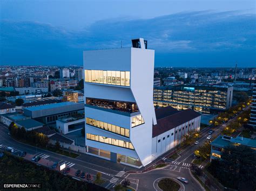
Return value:
<svg viewBox="0 0 256 191">
<path fill-rule="evenodd" d="M 130 86 L 130 72 L 109 70 L 84 70 L 85 82 Z"/>
</svg>

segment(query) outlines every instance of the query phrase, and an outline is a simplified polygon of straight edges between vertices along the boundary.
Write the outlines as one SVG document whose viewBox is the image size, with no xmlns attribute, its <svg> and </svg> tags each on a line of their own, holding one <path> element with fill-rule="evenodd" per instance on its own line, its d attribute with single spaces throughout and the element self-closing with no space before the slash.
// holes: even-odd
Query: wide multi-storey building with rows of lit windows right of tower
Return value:
<svg viewBox="0 0 256 191">
<path fill-rule="evenodd" d="M 182 110 L 192 108 L 204 114 L 214 114 L 231 107 L 233 87 L 181 84 L 154 88 L 154 105 Z"/>
</svg>

